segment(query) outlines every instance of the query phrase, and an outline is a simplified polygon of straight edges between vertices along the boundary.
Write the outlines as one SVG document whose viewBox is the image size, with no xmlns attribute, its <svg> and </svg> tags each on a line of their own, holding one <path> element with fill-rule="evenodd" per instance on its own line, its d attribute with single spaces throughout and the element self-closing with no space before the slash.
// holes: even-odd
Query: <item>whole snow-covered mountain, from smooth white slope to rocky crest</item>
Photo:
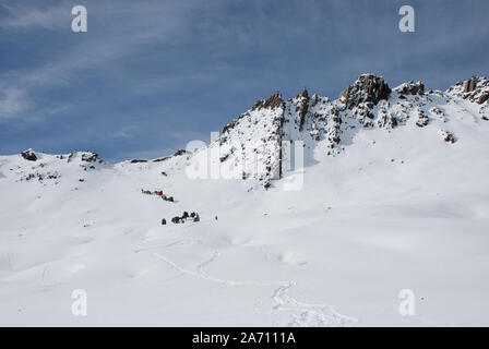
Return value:
<svg viewBox="0 0 489 349">
<path fill-rule="evenodd" d="M 368 74 L 336 100 L 274 94 L 192 153 L 0 156 L 0 324 L 487 325 L 487 86 Z M 213 152 L 237 179 L 188 176 Z"/>
</svg>

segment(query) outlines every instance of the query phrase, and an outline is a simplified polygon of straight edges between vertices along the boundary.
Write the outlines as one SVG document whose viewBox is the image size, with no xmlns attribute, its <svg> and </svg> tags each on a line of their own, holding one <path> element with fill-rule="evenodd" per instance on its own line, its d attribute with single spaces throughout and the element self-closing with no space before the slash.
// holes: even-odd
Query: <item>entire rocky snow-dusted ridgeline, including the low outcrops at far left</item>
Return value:
<svg viewBox="0 0 489 349">
<path fill-rule="evenodd" d="M 290 166 L 294 143 L 300 142 L 305 166 L 310 166 L 315 161 L 314 154 L 336 156 L 354 143 L 362 130 L 391 132 L 406 127 L 405 132 L 409 132 L 413 128 L 432 127 L 438 129 L 441 141 L 455 143 L 460 139 L 450 130 L 450 121 L 468 116 L 474 116 L 473 122 L 489 120 L 489 81 L 486 77 L 472 76 L 441 92 L 426 91 L 421 82 L 407 82 L 391 88 L 382 76 L 362 74 L 335 100 L 317 94 L 310 96 L 306 88 L 289 99 L 275 92 L 226 124 L 208 147 L 195 154 L 180 149 L 171 156 L 132 159 L 116 167 L 159 164 L 167 169 L 166 173 L 202 165 L 208 160 L 202 155 L 212 153 L 212 165 L 225 168 L 228 177 L 252 180 L 269 188 L 273 180 L 295 170 Z M 61 177 L 43 170 L 46 159 L 48 163 L 74 161 L 84 171 L 107 167 L 96 153 L 91 152 L 52 157 L 28 149 L 21 156 L 25 161 L 20 164 L 33 169 L 21 177 L 26 180 Z"/>
</svg>

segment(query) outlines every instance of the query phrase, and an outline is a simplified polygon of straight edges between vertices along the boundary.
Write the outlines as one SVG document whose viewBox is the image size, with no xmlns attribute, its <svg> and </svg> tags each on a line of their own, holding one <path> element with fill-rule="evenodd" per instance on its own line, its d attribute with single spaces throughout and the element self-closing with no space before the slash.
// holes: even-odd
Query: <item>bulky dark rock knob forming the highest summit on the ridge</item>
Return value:
<svg viewBox="0 0 489 349">
<path fill-rule="evenodd" d="M 345 103 L 348 109 L 353 109 L 362 103 L 377 105 L 381 99 L 387 99 L 390 95 L 391 88 L 383 77 L 365 74 L 358 76 L 353 85 L 346 87 L 338 98 Z"/>
</svg>

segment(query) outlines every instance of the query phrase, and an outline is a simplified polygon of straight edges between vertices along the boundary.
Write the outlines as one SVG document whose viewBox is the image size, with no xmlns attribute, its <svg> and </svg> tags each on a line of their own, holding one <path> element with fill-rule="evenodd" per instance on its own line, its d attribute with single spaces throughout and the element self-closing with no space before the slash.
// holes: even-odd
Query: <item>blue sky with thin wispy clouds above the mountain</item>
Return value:
<svg viewBox="0 0 489 349">
<path fill-rule="evenodd" d="M 71 31 L 83 4 L 88 32 Z M 416 11 L 401 33 L 398 9 Z M 336 98 L 361 73 L 445 89 L 488 75 L 487 0 L 0 3 L 0 154 L 152 158 L 275 91 Z"/>
</svg>

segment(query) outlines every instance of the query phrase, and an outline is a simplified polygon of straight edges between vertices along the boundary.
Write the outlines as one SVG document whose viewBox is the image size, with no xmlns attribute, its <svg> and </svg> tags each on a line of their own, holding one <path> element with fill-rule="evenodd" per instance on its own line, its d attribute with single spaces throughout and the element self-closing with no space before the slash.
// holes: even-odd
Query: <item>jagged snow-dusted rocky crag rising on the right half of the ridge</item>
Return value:
<svg viewBox="0 0 489 349">
<path fill-rule="evenodd" d="M 475 112 L 487 121 L 488 80 L 472 77 L 465 89 L 462 87 L 458 83 L 446 92 L 425 92 L 421 82 L 408 82 L 391 89 L 383 77 L 363 74 L 335 100 L 317 94 L 310 97 L 306 88 L 288 100 L 274 93 L 224 127 L 211 146 L 219 146 L 219 160 L 231 170 L 236 168 L 236 177 L 253 178 L 267 186 L 288 170 L 284 142 L 303 142 L 307 163 L 317 148 L 337 155 L 363 129 L 390 132 L 398 127 L 425 128 L 432 123 L 440 134 L 446 134 L 448 115 L 455 118 Z"/>
</svg>

